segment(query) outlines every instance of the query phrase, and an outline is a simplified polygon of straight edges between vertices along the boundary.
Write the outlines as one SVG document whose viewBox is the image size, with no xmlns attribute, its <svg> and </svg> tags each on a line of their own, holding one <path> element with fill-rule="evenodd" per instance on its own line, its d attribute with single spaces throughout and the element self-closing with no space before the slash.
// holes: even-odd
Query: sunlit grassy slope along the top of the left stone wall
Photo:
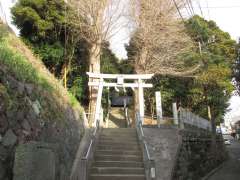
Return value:
<svg viewBox="0 0 240 180">
<path fill-rule="evenodd" d="M 46 69 L 42 61 L 2 24 L 0 24 L 1 65 L 6 67 L 8 73 L 17 80 L 44 90 L 46 93 L 38 92 L 38 94 L 45 94 L 48 99 L 51 99 L 51 103 L 54 103 L 52 104 L 54 114 L 59 114 L 59 111 L 67 105 L 82 111 L 76 98 Z M 61 106 L 60 109 L 59 106 Z"/>
</svg>

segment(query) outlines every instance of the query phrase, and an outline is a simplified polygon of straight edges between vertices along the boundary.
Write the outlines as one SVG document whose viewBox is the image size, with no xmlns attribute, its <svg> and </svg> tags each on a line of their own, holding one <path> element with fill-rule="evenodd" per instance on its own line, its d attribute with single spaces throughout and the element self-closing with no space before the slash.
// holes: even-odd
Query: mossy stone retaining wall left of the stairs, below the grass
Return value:
<svg viewBox="0 0 240 180">
<path fill-rule="evenodd" d="M 13 172 L 15 151 L 31 141 L 56 146 L 55 180 L 69 179 L 84 125 L 79 109 L 59 102 L 44 88 L 19 81 L 0 64 L 1 180 L 18 180 L 20 171 Z"/>
</svg>

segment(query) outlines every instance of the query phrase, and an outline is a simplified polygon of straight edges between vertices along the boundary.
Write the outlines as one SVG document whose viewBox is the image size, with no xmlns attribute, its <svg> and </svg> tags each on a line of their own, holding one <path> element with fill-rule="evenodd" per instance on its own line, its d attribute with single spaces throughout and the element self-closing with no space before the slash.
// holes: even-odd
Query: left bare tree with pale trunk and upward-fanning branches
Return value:
<svg viewBox="0 0 240 180">
<path fill-rule="evenodd" d="M 122 20 L 126 12 L 126 0 L 69 0 L 68 3 L 76 12 L 71 21 L 90 47 L 89 71 L 100 73 L 102 44 L 127 25 Z M 95 110 L 96 98 L 97 89 L 90 89 L 91 113 Z"/>
</svg>

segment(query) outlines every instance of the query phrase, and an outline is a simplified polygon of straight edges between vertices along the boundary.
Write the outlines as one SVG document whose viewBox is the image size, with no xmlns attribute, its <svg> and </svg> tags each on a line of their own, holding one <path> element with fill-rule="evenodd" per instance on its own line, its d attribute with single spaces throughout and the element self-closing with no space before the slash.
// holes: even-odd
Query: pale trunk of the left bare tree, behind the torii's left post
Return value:
<svg viewBox="0 0 240 180">
<path fill-rule="evenodd" d="M 94 43 L 90 48 L 90 57 L 89 57 L 89 71 L 93 73 L 100 73 L 100 53 L 101 53 L 101 43 Z M 98 82 L 96 79 L 89 79 L 89 81 Z M 97 94 L 98 88 L 89 87 L 89 124 L 92 125 L 94 121 L 94 114 L 96 110 Z"/>
</svg>

